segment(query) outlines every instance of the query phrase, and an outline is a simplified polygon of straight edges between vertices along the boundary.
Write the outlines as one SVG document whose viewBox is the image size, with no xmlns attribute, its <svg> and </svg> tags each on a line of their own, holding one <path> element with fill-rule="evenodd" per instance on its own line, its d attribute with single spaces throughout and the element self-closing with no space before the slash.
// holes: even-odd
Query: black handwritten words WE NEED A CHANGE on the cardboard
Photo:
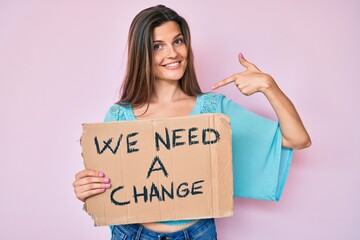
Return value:
<svg viewBox="0 0 360 240">
<path fill-rule="evenodd" d="M 201 142 L 198 139 L 198 132 L 199 129 L 196 127 L 192 127 L 190 129 L 174 129 L 172 130 L 171 134 L 169 134 L 169 130 L 165 128 L 164 135 L 159 132 L 155 132 L 154 139 L 155 139 L 155 149 L 156 151 L 160 151 L 160 145 L 163 145 L 167 150 L 170 150 L 171 148 L 179 147 L 182 145 L 187 144 L 188 146 L 195 145 L 195 144 L 215 144 L 220 140 L 220 133 L 212 128 L 202 129 L 201 130 Z M 184 136 L 181 133 L 185 133 L 187 136 Z M 137 138 L 136 138 L 137 137 Z M 126 136 L 126 149 L 127 153 L 131 154 L 134 152 L 138 152 L 140 149 L 137 148 L 136 144 L 139 141 L 139 132 L 132 132 L 127 134 Z M 185 141 L 185 137 L 187 137 Z M 113 154 L 116 154 L 118 151 L 121 142 L 122 142 L 123 134 L 121 133 L 118 137 L 116 144 L 112 147 L 111 143 L 113 141 L 113 138 L 109 138 L 106 141 L 103 141 L 103 146 L 100 147 L 98 137 L 94 137 L 94 146 L 96 147 L 97 153 L 102 154 L 106 149 L 111 151 Z M 162 171 L 165 177 L 169 176 L 168 171 L 166 170 L 164 164 L 160 160 L 159 156 L 155 156 L 154 160 L 152 161 L 149 170 L 147 171 L 146 178 L 148 179 L 153 171 Z M 197 194 L 203 194 L 202 192 L 202 183 L 204 183 L 204 180 L 198 180 L 196 182 L 193 182 L 191 184 L 191 187 L 189 189 L 189 183 L 182 182 L 176 187 L 176 196 L 179 198 L 184 198 L 191 195 L 197 195 Z M 111 202 L 115 205 L 127 205 L 130 203 L 129 201 L 126 202 L 119 202 L 116 200 L 115 195 L 117 192 L 120 192 L 121 189 L 125 188 L 125 186 L 119 186 L 112 190 L 111 192 Z M 159 191 L 160 188 L 160 191 Z M 134 202 L 138 203 L 139 198 L 142 198 L 144 202 L 147 202 L 148 200 L 152 202 L 154 198 L 156 198 L 159 201 L 165 201 L 167 196 L 169 199 L 174 199 L 174 182 L 171 182 L 170 189 L 166 189 L 163 185 L 161 187 L 156 186 L 155 183 L 151 184 L 150 190 L 146 186 L 142 187 L 142 190 L 138 190 L 137 186 L 133 186 L 133 198 Z"/>
</svg>

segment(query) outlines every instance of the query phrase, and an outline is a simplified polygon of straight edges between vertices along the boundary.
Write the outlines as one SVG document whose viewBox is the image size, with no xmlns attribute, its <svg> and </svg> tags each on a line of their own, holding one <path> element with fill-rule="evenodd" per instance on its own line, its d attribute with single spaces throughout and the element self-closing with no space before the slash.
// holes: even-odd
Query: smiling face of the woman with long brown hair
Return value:
<svg viewBox="0 0 360 240">
<path fill-rule="evenodd" d="M 176 22 L 166 22 L 153 32 L 153 72 L 156 80 L 179 80 L 187 66 L 184 36 Z"/>
</svg>

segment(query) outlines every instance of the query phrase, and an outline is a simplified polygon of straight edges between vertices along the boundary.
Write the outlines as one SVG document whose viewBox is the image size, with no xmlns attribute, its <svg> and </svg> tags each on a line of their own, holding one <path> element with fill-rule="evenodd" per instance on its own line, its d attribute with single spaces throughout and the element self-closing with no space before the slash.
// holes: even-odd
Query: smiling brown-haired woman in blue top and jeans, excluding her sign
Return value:
<svg viewBox="0 0 360 240">
<path fill-rule="evenodd" d="M 311 141 L 294 106 L 274 79 L 242 54 L 239 61 L 246 70 L 214 84 L 212 89 L 234 83 L 244 95 L 263 93 L 279 123 L 248 112 L 223 95 L 203 94 L 196 79 L 186 21 L 162 5 L 145 9 L 131 24 L 121 98 L 110 108 L 105 121 L 227 114 L 236 145 L 235 197 L 278 200 L 291 149 L 308 147 Z M 236 174 L 238 171 L 242 174 Z M 75 178 L 74 190 L 81 201 L 111 187 L 110 179 L 95 170 L 84 169 Z M 216 239 L 216 229 L 213 219 L 169 221 L 112 226 L 112 235 L 112 239 Z"/>
</svg>

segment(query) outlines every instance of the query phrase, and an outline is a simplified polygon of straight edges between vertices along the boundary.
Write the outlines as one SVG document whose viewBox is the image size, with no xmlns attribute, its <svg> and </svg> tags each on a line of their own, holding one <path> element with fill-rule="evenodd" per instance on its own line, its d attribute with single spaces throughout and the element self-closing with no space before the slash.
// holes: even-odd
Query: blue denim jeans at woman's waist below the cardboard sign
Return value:
<svg viewBox="0 0 360 240">
<path fill-rule="evenodd" d="M 214 219 L 202 219 L 188 228 L 171 233 L 154 232 L 141 224 L 116 225 L 111 240 L 216 240 Z"/>
</svg>

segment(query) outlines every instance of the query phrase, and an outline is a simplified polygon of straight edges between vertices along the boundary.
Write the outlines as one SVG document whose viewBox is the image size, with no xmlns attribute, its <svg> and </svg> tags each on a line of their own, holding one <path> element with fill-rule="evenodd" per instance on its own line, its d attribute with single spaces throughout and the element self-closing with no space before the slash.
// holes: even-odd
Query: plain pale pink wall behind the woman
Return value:
<svg viewBox="0 0 360 240">
<path fill-rule="evenodd" d="M 110 239 L 72 188 L 81 123 L 100 122 L 126 65 L 131 20 L 158 1 L 0 1 L 1 239 Z M 189 22 L 204 91 L 242 67 L 270 73 L 312 137 L 280 203 L 235 201 L 220 239 L 360 239 L 360 2 L 163 1 Z M 261 94 L 225 93 L 270 118 Z"/>
</svg>

